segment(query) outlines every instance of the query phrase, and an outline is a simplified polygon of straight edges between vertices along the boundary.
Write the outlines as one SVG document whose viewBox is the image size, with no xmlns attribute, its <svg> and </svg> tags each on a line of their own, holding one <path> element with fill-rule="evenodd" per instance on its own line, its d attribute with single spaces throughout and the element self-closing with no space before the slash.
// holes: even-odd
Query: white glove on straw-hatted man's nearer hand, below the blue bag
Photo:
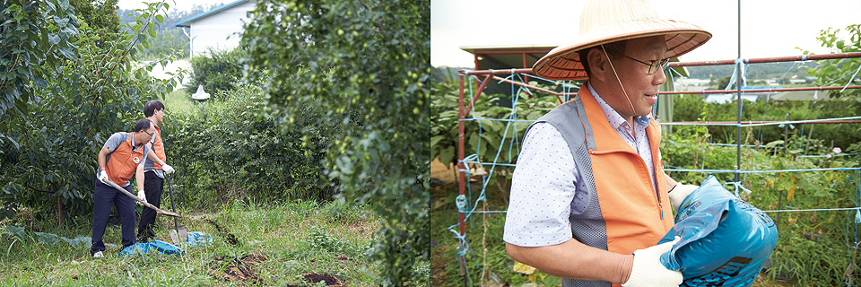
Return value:
<svg viewBox="0 0 861 287">
<path fill-rule="evenodd" d="M 681 237 L 676 236 L 671 242 L 634 251 L 631 276 L 628 277 L 628 282 L 622 283 L 622 287 L 679 286 L 684 280 L 682 272 L 669 270 L 661 265 L 661 255 L 670 251 L 673 245 L 681 239 Z"/>
</svg>

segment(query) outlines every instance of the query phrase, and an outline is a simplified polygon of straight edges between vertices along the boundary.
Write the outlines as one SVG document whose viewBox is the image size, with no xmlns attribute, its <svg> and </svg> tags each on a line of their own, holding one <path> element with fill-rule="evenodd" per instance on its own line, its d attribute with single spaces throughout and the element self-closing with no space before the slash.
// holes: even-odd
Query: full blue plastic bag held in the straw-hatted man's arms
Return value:
<svg viewBox="0 0 861 287">
<path fill-rule="evenodd" d="M 750 286 L 778 244 L 769 215 L 720 185 L 714 176 L 682 202 L 675 226 L 660 243 L 682 240 L 661 257 L 680 270 L 682 286 Z"/>
</svg>

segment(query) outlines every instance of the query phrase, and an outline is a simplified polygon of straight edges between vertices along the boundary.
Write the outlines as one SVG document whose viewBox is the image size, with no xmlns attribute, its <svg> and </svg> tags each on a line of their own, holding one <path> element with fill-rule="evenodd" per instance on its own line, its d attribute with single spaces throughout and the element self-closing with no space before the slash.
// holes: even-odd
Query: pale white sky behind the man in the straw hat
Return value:
<svg viewBox="0 0 861 287">
<path fill-rule="evenodd" d="M 586 0 L 431 0 L 431 65 L 472 67 L 460 47 L 558 46 L 579 31 Z M 651 0 L 661 18 L 689 22 L 712 33 L 683 62 L 739 57 L 739 1 Z M 804 48 L 830 53 L 821 30 L 861 24 L 858 0 L 742 0 L 741 57 L 799 56 Z"/>
</svg>

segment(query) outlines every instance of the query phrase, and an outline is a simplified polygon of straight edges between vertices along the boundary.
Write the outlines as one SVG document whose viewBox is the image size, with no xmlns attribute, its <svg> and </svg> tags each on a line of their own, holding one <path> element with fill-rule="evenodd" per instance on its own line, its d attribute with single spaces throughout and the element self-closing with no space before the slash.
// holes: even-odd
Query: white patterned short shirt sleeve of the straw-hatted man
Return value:
<svg viewBox="0 0 861 287">
<path fill-rule="evenodd" d="M 546 123 L 530 128 L 511 179 L 502 239 L 521 247 L 570 240 L 571 207 L 578 204 L 575 199 L 582 200 L 575 198 L 576 178 L 574 159 L 559 131 Z"/>
</svg>

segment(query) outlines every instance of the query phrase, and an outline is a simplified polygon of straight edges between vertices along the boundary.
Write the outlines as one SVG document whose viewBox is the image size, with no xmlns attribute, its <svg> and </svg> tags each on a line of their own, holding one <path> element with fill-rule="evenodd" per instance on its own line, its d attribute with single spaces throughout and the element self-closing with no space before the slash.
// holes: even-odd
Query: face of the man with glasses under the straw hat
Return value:
<svg viewBox="0 0 861 287">
<path fill-rule="evenodd" d="M 666 41 L 664 36 L 629 39 L 623 52 L 625 56 L 646 63 L 664 59 L 665 53 Z M 664 71 L 660 70 L 655 74 L 648 74 L 648 65 L 628 57 L 613 55 L 612 61 L 631 104 L 628 104 L 628 100 L 624 99 L 625 93 L 619 91 L 615 93 L 619 97 L 614 97 L 613 101 L 615 102 L 612 106 L 622 117 L 646 116 L 652 112 L 652 106 L 657 103 L 657 92 L 660 91 L 660 85 L 666 82 L 666 76 Z M 607 81 L 618 82 L 612 74 Z M 618 84 L 615 86 L 618 87 Z M 607 101 L 609 103 L 610 100 Z M 631 105 L 634 108 L 633 113 L 631 113 Z"/>
</svg>

